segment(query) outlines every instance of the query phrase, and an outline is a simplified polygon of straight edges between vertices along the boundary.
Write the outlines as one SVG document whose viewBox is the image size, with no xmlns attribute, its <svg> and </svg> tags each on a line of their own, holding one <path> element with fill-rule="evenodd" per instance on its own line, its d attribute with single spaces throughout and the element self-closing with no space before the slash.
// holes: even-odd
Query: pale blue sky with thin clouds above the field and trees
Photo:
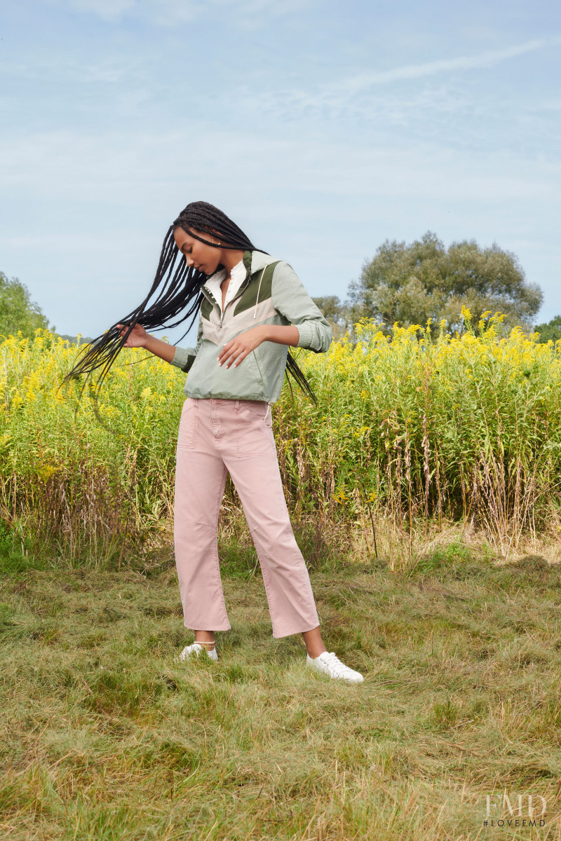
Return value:
<svg viewBox="0 0 561 841">
<path fill-rule="evenodd" d="M 0 271 L 60 333 L 139 304 L 194 200 L 313 296 L 431 230 L 561 313 L 553 0 L 9 0 L 0 42 Z"/>
</svg>

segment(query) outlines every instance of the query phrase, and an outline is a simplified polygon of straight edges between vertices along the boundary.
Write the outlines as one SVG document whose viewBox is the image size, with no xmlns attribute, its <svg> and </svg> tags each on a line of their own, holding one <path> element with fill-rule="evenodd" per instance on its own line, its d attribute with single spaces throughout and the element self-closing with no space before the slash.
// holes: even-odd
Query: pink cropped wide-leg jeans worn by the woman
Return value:
<svg viewBox="0 0 561 841">
<path fill-rule="evenodd" d="M 218 515 L 230 473 L 261 564 L 273 637 L 318 627 L 310 576 L 294 539 L 270 406 L 188 397 L 177 436 L 175 557 L 185 627 L 228 631 Z"/>
</svg>

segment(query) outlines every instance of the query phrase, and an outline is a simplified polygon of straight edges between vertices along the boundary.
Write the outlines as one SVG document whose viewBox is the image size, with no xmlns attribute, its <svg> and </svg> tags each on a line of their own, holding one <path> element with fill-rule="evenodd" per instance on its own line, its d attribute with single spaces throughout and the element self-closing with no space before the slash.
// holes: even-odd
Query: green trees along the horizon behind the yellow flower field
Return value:
<svg viewBox="0 0 561 841">
<path fill-rule="evenodd" d="M 314 301 L 331 323 L 335 339 L 347 331 L 352 336 L 352 325 L 365 317 L 375 319 L 388 334 L 395 322 L 410 327 L 425 326 L 431 320 L 433 333 L 442 324 L 450 335 L 461 335 L 465 329 L 462 308 L 467 307 L 474 325 L 484 313 L 500 312 L 505 316 L 505 332 L 517 325 L 527 332 L 537 331 L 539 341 L 557 341 L 561 315 L 547 324 L 533 323 L 542 299 L 541 288 L 528 283 L 511 251 L 495 243 L 481 248 L 475 240 L 453 242 L 446 248 L 429 230 L 421 240 L 410 243 L 383 242 L 374 257 L 363 263 L 360 277 L 349 283 L 346 299 L 325 295 Z M 38 327 L 55 331 L 25 284 L 0 272 L 0 341 L 18 331 L 33 336 Z"/>
</svg>

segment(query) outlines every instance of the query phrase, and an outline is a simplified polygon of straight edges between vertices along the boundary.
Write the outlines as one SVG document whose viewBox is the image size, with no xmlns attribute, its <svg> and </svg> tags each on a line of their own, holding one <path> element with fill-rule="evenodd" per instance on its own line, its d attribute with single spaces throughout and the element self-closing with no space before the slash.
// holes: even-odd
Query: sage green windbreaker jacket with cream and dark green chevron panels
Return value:
<svg viewBox="0 0 561 841">
<path fill-rule="evenodd" d="M 172 365 L 188 373 L 185 394 L 207 399 L 267 400 L 274 403 L 283 388 L 288 345 L 263 341 L 237 368 L 218 364 L 226 341 L 260 324 L 294 325 L 299 347 L 325 353 L 331 345 L 331 325 L 304 289 L 288 263 L 261 251 L 246 251 L 246 279 L 221 313 L 209 288 L 198 318 L 196 347 L 177 347 Z"/>
</svg>

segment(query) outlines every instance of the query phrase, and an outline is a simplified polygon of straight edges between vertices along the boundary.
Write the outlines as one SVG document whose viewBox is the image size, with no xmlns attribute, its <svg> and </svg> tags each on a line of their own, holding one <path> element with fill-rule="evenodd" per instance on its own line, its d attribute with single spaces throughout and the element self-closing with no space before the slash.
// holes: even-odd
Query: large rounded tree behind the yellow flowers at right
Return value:
<svg viewBox="0 0 561 841">
<path fill-rule="evenodd" d="M 494 243 L 480 248 L 476 241 L 453 242 L 446 249 L 427 231 L 421 240 L 386 240 L 373 260 L 363 265 L 360 279 L 349 286 L 352 322 L 363 316 L 384 321 L 389 329 L 425 325 L 432 331 L 445 320 L 451 334 L 463 332 L 462 306 L 476 325 L 484 312 L 505 314 L 505 327 L 532 331 L 532 317 L 542 304 L 542 291 L 527 283 L 518 259 Z"/>
</svg>

